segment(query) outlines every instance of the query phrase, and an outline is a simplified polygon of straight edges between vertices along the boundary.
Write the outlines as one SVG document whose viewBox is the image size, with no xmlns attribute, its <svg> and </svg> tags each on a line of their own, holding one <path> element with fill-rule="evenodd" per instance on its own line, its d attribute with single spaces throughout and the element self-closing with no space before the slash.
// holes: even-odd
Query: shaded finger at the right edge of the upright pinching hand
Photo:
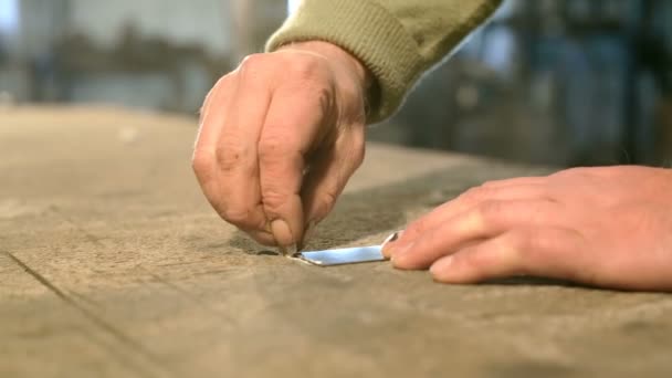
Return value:
<svg viewBox="0 0 672 378">
<path fill-rule="evenodd" d="M 306 231 L 332 211 L 348 179 L 364 161 L 364 124 L 346 127 L 330 148 L 316 156 L 305 178 L 302 199 Z"/>
</svg>

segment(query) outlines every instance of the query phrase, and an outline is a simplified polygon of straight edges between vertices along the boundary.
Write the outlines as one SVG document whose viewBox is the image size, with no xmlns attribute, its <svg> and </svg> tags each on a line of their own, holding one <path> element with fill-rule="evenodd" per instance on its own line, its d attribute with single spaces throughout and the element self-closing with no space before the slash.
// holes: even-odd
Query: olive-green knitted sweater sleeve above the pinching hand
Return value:
<svg viewBox="0 0 672 378">
<path fill-rule="evenodd" d="M 376 80 L 368 123 L 389 117 L 420 75 L 502 0 L 304 0 L 266 51 L 322 40 L 357 56 Z"/>
</svg>

